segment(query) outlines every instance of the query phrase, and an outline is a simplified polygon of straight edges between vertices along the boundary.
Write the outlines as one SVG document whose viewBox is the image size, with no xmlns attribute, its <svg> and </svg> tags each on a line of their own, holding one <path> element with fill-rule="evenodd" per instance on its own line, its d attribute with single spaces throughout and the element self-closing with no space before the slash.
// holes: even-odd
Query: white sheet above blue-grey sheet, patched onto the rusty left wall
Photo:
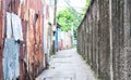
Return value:
<svg viewBox="0 0 131 80">
<path fill-rule="evenodd" d="M 7 39 L 3 48 L 4 80 L 20 77 L 20 40 L 23 40 L 21 18 L 7 13 Z"/>
</svg>

